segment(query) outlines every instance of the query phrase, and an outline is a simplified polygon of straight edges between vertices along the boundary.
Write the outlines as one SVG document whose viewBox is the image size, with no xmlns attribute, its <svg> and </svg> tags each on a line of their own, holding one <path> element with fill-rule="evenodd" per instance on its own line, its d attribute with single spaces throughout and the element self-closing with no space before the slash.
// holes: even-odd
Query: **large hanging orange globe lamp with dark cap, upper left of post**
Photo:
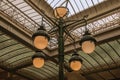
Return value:
<svg viewBox="0 0 120 80">
<path fill-rule="evenodd" d="M 41 26 L 37 32 L 32 35 L 33 44 L 37 49 L 45 49 L 48 45 L 50 40 L 49 35 L 47 34 L 46 30 Z"/>
</svg>

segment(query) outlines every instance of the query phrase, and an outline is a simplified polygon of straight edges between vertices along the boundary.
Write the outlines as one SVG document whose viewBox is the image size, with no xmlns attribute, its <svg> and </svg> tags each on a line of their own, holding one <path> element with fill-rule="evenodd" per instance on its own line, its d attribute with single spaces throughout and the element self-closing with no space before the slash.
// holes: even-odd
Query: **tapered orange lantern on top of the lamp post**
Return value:
<svg viewBox="0 0 120 80">
<path fill-rule="evenodd" d="M 54 16 L 56 18 L 63 18 L 68 13 L 68 9 L 66 7 L 56 7 L 54 10 Z"/>
</svg>

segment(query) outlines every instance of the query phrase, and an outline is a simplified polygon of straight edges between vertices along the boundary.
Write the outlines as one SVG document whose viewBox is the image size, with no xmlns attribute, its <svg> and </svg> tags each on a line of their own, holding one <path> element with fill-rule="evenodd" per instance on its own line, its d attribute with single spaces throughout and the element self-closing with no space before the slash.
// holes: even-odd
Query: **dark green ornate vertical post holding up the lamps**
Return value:
<svg viewBox="0 0 120 80">
<path fill-rule="evenodd" d="M 58 59 L 59 59 L 59 80 L 64 80 L 64 25 L 63 19 L 59 19 L 58 37 Z"/>
</svg>

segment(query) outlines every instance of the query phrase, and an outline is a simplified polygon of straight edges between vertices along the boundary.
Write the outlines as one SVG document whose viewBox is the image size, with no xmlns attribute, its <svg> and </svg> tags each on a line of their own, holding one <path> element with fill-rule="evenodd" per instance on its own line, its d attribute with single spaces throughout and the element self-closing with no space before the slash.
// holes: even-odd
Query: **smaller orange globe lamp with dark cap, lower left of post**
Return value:
<svg viewBox="0 0 120 80">
<path fill-rule="evenodd" d="M 37 51 L 36 54 L 32 56 L 32 61 L 36 68 L 41 68 L 45 62 L 45 55 L 41 51 Z"/>
</svg>

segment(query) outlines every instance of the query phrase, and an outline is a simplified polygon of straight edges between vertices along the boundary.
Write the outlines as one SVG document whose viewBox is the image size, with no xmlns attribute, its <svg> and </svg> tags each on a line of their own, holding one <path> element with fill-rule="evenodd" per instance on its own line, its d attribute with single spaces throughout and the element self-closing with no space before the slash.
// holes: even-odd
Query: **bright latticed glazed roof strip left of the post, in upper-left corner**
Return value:
<svg viewBox="0 0 120 80">
<path fill-rule="evenodd" d="M 24 25 L 22 27 L 25 27 L 32 32 L 35 32 L 41 24 L 41 15 L 24 0 L 3 0 L 0 7 L 4 13 Z M 45 26 L 47 26 L 46 29 L 51 29 L 49 26 L 50 24 L 46 20 L 44 21 Z"/>
</svg>

